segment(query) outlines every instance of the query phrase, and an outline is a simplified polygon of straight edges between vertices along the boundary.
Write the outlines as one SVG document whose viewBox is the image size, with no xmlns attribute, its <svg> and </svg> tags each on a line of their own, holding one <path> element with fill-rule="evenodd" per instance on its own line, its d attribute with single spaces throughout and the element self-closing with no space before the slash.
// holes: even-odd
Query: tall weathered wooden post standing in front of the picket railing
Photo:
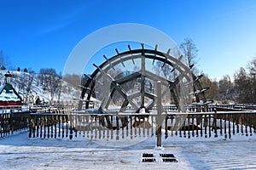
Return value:
<svg viewBox="0 0 256 170">
<path fill-rule="evenodd" d="M 162 141 L 161 141 L 161 137 L 162 137 L 162 133 L 161 133 L 161 129 L 162 129 L 162 122 L 161 122 L 161 112 L 162 112 L 162 92 L 161 92 L 161 82 L 157 81 L 157 85 L 156 85 L 156 94 L 157 94 L 157 117 L 156 117 L 156 123 L 157 123 L 157 147 L 161 147 L 162 146 Z"/>
</svg>

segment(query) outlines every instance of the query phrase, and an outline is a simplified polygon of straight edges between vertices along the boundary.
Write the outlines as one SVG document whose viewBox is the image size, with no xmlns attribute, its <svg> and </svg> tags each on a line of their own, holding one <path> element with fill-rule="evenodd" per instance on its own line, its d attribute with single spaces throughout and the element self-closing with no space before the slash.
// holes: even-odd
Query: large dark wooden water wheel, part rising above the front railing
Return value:
<svg viewBox="0 0 256 170">
<path fill-rule="evenodd" d="M 131 49 L 111 58 L 103 56 L 106 61 L 95 65 L 96 70 L 89 76 L 84 74 L 79 110 L 85 102 L 85 109 L 90 109 L 92 99 L 100 101 L 94 113 L 110 111 L 139 113 L 149 112 L 155 105 L 156 82 L 162 84 L 161 96 L 163 105 L 177 105 L 178 111 L 185 111 L 194 99 L 201 101 L 207 109 L 205 91 L 200 84 L 201 76 L 191 71 L 193 65 L 186 65 L 183 56 L 173 56 L 171 49 L 160 52 L 157 45 L 153 49 Z"/>
</svg>

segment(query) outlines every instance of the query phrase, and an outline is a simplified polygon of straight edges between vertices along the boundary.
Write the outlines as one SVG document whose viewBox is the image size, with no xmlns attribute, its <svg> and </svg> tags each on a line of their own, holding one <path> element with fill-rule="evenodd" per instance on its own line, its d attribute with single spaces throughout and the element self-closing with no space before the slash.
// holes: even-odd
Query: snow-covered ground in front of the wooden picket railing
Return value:
<svg viewBox="0 0 256 170">
<path fill-rule="evenodd" d="M 122 147 L 108 147 L 90 139 L 29 139 L 28 132 L 0 139 L 0 169 L 256 169 L 256 135 L 233 139 L 156 138 Z M 156 162 L 141 162 L 143 153 Z M 161 162 L 159 154 L 173 154 L 177 162 Z"/>
</svg>

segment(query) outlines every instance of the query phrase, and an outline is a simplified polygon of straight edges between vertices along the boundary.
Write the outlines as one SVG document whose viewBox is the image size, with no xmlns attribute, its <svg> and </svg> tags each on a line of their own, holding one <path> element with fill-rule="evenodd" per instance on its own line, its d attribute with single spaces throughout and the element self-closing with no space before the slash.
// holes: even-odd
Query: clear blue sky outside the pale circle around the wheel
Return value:
<svg viewBox="0 0 256 170">
<path fill-rule="evenodd" d="M 256 56 L 255 0 L 0 0 L 0 50 L 13 68 L 60 72 L 82 38 L 119 23 L 153 26 L 177 43 L 192 38 L 211 78 Z"/>
</svg>

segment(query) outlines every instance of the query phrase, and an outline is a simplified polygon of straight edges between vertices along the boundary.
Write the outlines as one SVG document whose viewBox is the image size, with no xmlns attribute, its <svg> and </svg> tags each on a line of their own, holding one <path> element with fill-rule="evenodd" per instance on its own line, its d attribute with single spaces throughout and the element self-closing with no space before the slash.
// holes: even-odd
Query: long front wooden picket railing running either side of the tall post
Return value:
<svg viewBox="0 0 256 170">
<path fill-rule="evenodd" d="M 156 114 L 50 114 L 33 113 L 29 119 L 30 138 L 133 139 L 156 135 Z M 165 137 L 251 136 L 256 133 L 255 111 L 163 113 Z"/>
</svg>

